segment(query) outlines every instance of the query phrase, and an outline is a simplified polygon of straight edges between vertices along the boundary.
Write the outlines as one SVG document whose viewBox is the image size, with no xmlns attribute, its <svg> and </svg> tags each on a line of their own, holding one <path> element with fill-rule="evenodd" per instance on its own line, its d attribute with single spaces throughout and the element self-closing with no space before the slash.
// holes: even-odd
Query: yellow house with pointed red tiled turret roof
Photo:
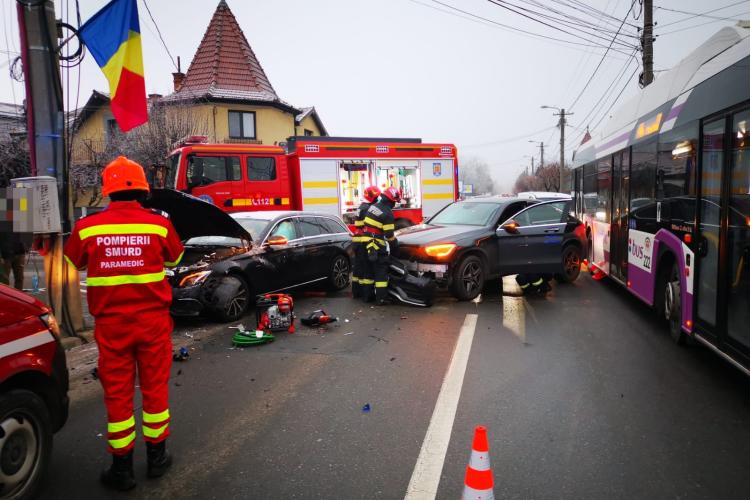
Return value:
<svg viewBox="0 0 750 500">
<path fill-rule="evenodd" d="M 210 142 L 249 144 L 283 144 L 291 136 L 328 135 L 314 107 L 293 106 L 278 96 L 225 0 L 216 7 L 187 72 L 178 69 L 172 77 L 171 94 L 149 95 L 151 122 L 155 109 L 166 110 L 173 121 L 182 122 L 181 127 L 166 127 L 169 130 L 165 133 L 183 130 L 183 136 L 206 135 Z M 137 127 L 123 141 L 110 111 L 109 95 L 99 91 L 70 115 L 72 168 L 101 167 L 103 159 L 115 150 L 132 155 L 134 152 L 127 148 L 139 141 L 127 139 L 140 137 L 142 129 L 152 126 L 147 123 Z M 165 147 L 163 159 L 168 149 Z M 97 198 L 86 194 L 77 199 L 87 204 L 90 202 L 86 200 Z"/>
</svg>

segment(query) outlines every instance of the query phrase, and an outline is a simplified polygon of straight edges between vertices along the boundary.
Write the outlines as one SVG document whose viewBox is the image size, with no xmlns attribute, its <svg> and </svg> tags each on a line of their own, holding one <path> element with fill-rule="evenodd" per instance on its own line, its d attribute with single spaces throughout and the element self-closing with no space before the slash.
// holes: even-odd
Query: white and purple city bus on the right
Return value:
<svg viewBox="0 0 750 500">
<path fill-rule="evenodd" d="M 745 27 L 747 26 L 747 27 Z M 717 32 L 575 155 L 590 266 L 750 375 L 750 24 Z"/>
</svg>

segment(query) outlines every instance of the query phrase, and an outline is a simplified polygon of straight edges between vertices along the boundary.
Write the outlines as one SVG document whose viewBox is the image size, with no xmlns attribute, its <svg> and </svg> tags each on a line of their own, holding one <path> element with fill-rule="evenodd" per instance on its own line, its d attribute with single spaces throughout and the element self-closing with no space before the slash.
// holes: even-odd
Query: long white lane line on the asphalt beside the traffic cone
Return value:
<svg viewBox="0 0 750 500">
<path fill-rule="evenodd" d="M 474 340 L 474 330 L 477 327 L 477 318 L 476 314 L 467 314 L 464 319 L 451 362 L 445 372 L 443 386 L 435 402 L 427 434 L 422 442 L 417 464 L 414 466 L 414 472 L 406 490 L 405 500 L 432 499 L 437 495 L 443 462 L 445 462 L 445 454 L 448 452 L 448 443 L 453 430 L 453 420 L 456 418 L 458 400 L 461 397 L 461 387 L 464 384 L 466 365 L 469 362 L 471 343 Z"/>
</svg>

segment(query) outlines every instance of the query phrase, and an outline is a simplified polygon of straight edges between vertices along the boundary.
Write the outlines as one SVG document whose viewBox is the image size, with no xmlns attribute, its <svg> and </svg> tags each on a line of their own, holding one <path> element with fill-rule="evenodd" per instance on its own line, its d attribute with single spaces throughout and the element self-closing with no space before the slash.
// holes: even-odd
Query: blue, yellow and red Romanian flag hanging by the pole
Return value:
<svg viewBox="0 0 750 500">
<path fill-rule="evenodd" d="M 147 122 L 136 0 L 112 0 L 81 26 L 80 34 L 109 80 L 112 114 L 122 131 Z"/>
</svg>

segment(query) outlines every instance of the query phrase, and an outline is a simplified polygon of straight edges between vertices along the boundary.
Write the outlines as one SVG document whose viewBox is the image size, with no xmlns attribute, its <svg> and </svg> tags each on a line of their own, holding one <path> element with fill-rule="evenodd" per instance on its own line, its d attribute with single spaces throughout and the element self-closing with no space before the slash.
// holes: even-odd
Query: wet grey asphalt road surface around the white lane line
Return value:
<svg viewBox="0 0 750 500">
<path fill-rule="evenodd" d="M 224 325 L 181 322 L 176 338 L 195 343 L 173 367 L 175 465 L 146 480 L 139 444 L 139 485 L 122 496 L 403 498 L 476 314 L 438 498 L 460 497 L 478 424 L 497 498 L 746 498 L 750 381 L 706 349 L 673 345 L 612 284 L 582 276 L 546 298 L 516 292 L 427 310 L 299 297 L 298 314 L 322 307 L 341 321 L 245 350 Z M 100 389 L 76 384 L 42 498 L 108 495 Z"/>
</svg>

